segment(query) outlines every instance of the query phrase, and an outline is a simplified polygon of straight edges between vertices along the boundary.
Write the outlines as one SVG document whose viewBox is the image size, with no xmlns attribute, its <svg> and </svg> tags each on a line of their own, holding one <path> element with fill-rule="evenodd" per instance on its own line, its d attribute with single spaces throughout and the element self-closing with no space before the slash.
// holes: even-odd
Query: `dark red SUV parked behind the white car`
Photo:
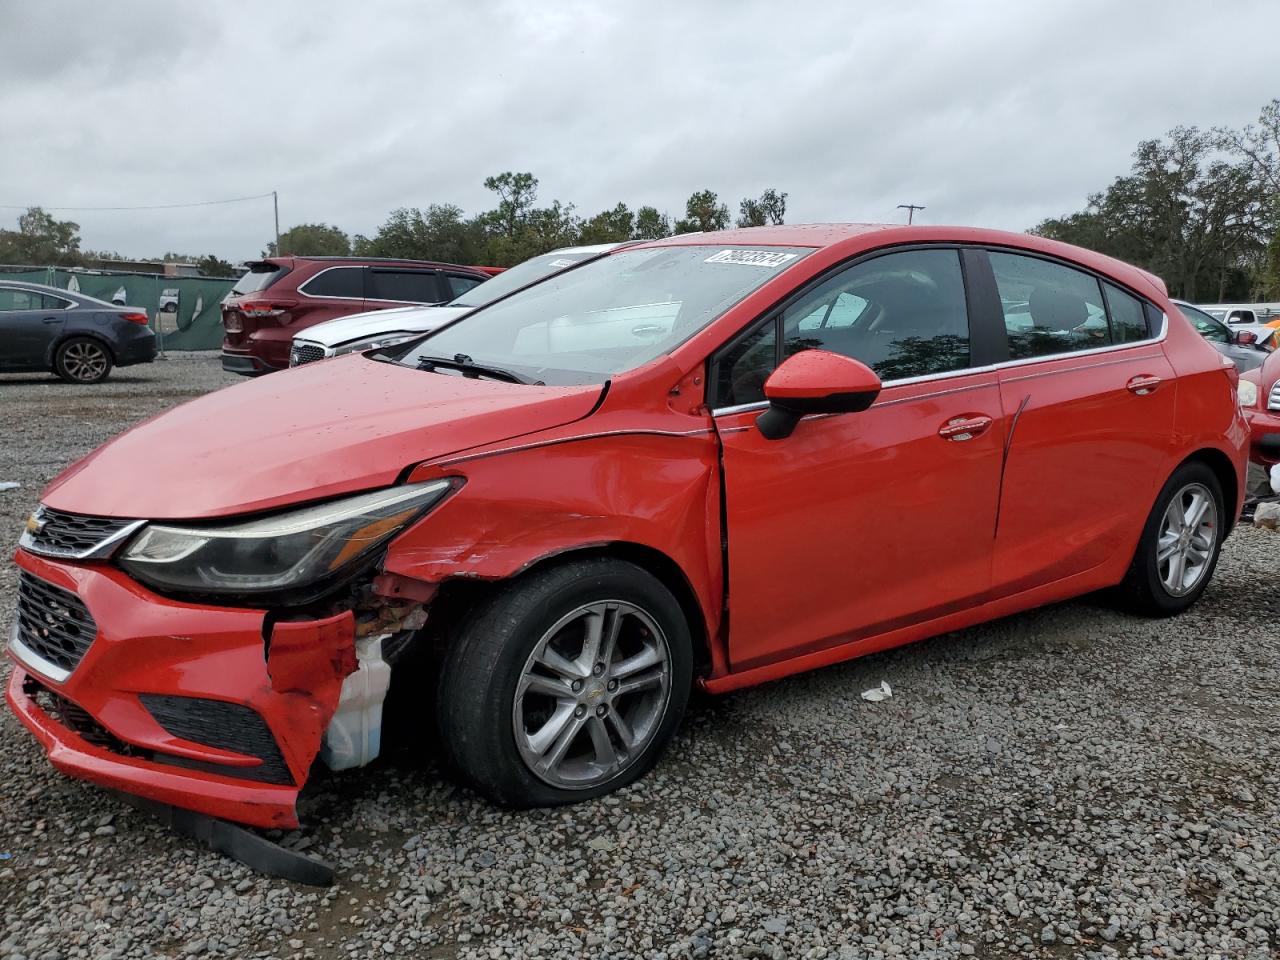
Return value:
<svg viewBox="0 0 1280 960">
<path fill-rule="evenodd" d="M 246 376 L 283 370 L 298 330 L 366 310 L 442 303 L 489 276 L 479 266 L 422 260 L 259 260 L 223 301 L 223 370 Z"/>
</svg>

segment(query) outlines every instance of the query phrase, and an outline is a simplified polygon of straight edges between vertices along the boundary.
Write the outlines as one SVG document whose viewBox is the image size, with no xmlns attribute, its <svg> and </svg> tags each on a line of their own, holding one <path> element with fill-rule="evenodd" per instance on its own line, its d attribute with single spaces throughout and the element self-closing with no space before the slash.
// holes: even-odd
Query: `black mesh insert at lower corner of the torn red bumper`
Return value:
<svg viewBox="0 0 1280 960">
<path fill-rule="evenodd" d="M 257 756 L 260 767 L 225 767 L 198 763 L 177 756 L 156 755 L 169 763 L 196 769 L 215 771 L 228 777 L 256 780 L 262 783 L 292 783 L 280 746 L 271 736 L 266 721 L 252 707 L 227 700 L 205 700 L 196 696 L 168 696 L 164 694 L 138 694 L 142 705 L 155 717 L 156 723 L 180 740 L 206 744 L 219 750 Z"/>
</svg>

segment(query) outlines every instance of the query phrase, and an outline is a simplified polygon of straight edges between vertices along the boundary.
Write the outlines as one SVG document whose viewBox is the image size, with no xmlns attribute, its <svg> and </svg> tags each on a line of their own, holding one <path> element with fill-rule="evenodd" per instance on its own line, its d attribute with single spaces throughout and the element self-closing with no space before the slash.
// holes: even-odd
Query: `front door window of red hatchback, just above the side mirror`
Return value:
<svg viewBox="0 0 1280 960">
<path fill-rule="evenodd" d="M 955 250 L 886 253 L 842 270 L 740 340 L 717 361 L 717 406 L 764 399 L 781 355 L 827 349 L 854 357 L 882 380 L 969 366 L 969 317 Z"/>
</svg>

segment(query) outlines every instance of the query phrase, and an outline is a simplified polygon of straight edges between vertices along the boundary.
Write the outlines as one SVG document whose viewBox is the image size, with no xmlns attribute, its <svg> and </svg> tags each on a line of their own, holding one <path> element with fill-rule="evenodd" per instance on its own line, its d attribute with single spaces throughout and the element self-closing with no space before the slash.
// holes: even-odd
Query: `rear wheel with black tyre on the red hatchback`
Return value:
<svg viewBox="0 0 1280 960">
<path fill-rule="evenodd" d="M 1203 463 L 1184 463 L 1151 509 L 1120 585 L 1126 607 L 1148 617 L 1181 613 L 1204 593 L 1222 547 L 1222 488 Z"/>
</svg>

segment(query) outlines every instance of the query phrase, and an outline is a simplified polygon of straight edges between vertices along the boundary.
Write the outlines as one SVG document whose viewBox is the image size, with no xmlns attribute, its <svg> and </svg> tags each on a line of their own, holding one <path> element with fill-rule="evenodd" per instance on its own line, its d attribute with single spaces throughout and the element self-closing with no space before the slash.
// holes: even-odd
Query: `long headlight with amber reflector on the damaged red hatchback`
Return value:
<svg viewBox="0 0 1280 960">
<path fill-rule="evenodd" d="M 232 524 L 148 524 L 120 556 L 120 566 L 160 590 L 289 593 L 367 557 L 453 485 L 393 486 Z"/>
</svg>

